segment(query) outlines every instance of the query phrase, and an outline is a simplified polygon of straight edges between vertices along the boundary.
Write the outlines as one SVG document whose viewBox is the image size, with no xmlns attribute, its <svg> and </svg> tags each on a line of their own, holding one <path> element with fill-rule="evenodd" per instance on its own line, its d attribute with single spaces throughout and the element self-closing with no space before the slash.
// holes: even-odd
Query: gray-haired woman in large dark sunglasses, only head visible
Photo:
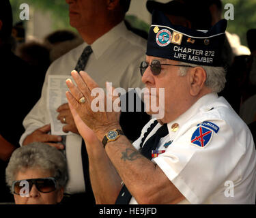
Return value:
<svg viewBox="0 0 256 218">
<path fill-rule="evenodd" d="M 53 146 L 33 142 L 16 149 L 5 173 L 16 204 L 57 204 L 63 198 L 66 159 Z"/>
</svg>

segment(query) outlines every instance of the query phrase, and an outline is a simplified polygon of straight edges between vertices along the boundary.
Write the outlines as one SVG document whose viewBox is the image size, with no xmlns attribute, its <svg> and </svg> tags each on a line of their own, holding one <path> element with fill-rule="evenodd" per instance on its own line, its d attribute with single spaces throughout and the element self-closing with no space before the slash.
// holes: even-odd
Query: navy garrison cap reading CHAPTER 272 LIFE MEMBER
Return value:
<svg viewBox="0 0 256 218">
<path fill-rule="evenodd" d="M 227 20 L 223 19 L 208 30 L 188 29 L 172 25 L 165 14 L 154 10 L 146 55 L 197 65 L 223 66 L 221 50 L 226 28 Z"/>
</svg>

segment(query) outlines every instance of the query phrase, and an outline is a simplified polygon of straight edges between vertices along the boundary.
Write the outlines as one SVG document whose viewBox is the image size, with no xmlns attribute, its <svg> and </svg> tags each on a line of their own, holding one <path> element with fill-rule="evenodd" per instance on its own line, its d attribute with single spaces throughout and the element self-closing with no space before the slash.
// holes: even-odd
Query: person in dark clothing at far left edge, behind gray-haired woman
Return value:
<svg viewBox="0 0 256 218">
<path fill-rule="evenodd" d="M 0 123 L 0 202 L 12 200 L 4 174 L 8 159 L 19 146 L 18 139 L 24 131 L 22 125 L 25 115 L 31 110 L 40 90 L 31 66 L 12 52 L 12 7 L 9 0 L 0 1 L 0 86 L 1 123 Z M 8 82 L 11 82 L 8 84 Z"/>
</svg>

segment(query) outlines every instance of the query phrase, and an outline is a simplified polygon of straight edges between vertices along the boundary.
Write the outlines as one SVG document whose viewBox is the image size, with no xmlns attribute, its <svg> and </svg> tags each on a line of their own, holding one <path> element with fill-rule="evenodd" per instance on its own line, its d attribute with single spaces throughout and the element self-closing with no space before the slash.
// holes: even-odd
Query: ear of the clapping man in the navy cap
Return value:
<svg viewBox="0 0 256 218">
<path fill-rule="evenodd" d="M 193 67 L 190 69 L 190 95 L 197 96 L 203 89 L 206 80 L 206 72 L 203 67 Z"/>
</svg>

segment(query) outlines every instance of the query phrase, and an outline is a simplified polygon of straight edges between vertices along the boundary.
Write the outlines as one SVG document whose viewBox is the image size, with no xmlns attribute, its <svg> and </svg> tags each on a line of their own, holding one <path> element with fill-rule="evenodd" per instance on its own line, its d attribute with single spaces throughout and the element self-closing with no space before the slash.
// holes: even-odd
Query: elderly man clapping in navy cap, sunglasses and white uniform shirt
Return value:
<svg viewBox="0 0 256 218">
<path fill-rule="evenodd" d="M 133 144 L 122 134 L 118 112 L 91 110 L 96 82 L 72 72 L 77 87 L 67 80 L 66 95 L 87 146 L 98 204 L 255 203 L 251 132 L 217 95 L 225 85 L 226 27 L 221 20 L 195 31 L 153 12 L 141 74 L 146 87 L 157 90 L 147 98 L 158 100 L 165 89 L 165 103 L 158 103 L 165 114 L 147 123 Z"/>
</svg>

